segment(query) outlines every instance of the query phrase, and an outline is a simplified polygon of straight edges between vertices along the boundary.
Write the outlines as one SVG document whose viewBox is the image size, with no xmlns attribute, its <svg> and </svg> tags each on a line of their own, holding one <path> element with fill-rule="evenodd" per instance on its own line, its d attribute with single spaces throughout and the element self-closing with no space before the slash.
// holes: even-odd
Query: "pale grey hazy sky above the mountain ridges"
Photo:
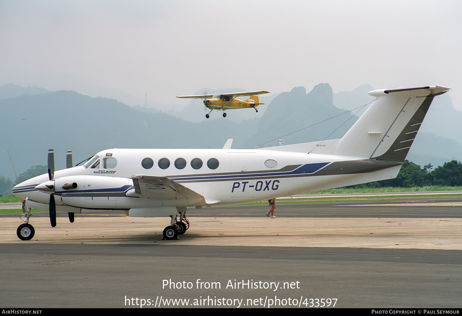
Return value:
<svg viewBox="0 0 462 316">
<path fill-rule="evenodd" d="M 134 105 L 208 87 L 445 85 L 462 110 L 462 1 L 0 0 L 0 85 Z"/>
</svg>

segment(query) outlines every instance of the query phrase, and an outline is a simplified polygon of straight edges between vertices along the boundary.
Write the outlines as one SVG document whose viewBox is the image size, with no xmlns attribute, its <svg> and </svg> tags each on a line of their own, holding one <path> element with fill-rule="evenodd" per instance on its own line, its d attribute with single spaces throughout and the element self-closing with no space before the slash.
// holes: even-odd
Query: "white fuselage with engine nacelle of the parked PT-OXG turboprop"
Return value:
<svg viewBox="0 0 462 316">
<path fill-rule="evenodd" d="M 357 160 L 358 171 L 343 172 L 343 168 L 353 161 L 351 157 L 267 149 L 108 149 L 98 152 L 91 164 L 55 171 L 54 193 L 60 197 L 55 199 L 56 205 L 77 208 L 130 209 L 239 204 L 304 190 L 364 182 L 363 172 L 359 171 L 368 163 L 365 159 Z M 381 164 L 376 168 L 377 175 L 374 178 L 389 178 L 388 169 L 398 166 L 399 170 L 400 165 Z M 383 176 L 379 175 L 381 172 Z M 142 198 L 133 192 L 132 178 L 135 176 L 166 177 L 204 199 L 178 196 Z M 13 192 L 23 199 L 43 203 L 43 208 L 47 209 L 49 194 L 35 189 L 47 181 L 48 174 L 37 176 L 20 183 Z M 76 188 L 61 188 L 73 182 Z M 155 185 L 150 189 L 152 192 L 163 190 Z M 159 196 L 162 197 L 162 194 Z"/>
</svg>

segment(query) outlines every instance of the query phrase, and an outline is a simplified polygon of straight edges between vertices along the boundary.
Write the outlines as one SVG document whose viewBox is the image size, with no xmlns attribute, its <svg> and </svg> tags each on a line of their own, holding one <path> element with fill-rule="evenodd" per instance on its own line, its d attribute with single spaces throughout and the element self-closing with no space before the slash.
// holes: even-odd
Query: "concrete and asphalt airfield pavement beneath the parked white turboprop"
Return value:
<svg viewBox="0 0 462 316">
<path fill-rule="evenodd" d="M 261 213 L 267 206 L 191 209 L 173 241 L 161 240 L 166 218 L 93 212 L 55 228 L 36 215 L 24 242 L 8 215 L 0 306 L 462 307 L 462 207 L 404 202 L 386 216 L 365 203 L 278 204 L 278 219 Z"/>
</svg>

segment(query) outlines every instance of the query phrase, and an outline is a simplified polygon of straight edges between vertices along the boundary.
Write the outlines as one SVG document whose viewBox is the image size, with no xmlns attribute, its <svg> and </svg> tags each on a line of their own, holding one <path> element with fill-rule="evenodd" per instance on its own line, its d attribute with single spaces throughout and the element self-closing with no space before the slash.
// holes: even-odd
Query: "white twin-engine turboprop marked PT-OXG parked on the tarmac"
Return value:
<svg viewBox="0 0 462 316">
<path fill-rule="evenodd" d="M 18 237 L 34 236 L 31 208 L 56 212 L 124 210 L 131 217 L 170 216 L 165 239 L 189 228 L 186 207 L 210 207 L 268 200 L 395 178 L 433 97 L 449 91 L 433 85 L 374 90 L 377 99 L 337 140 L 262 149 L 108 149 L 85 164 L 19 183 L 13 194 L 24 199 L 25 218 Z M 179 215 L 179 219 L 178 219 Z"/>
</svg>

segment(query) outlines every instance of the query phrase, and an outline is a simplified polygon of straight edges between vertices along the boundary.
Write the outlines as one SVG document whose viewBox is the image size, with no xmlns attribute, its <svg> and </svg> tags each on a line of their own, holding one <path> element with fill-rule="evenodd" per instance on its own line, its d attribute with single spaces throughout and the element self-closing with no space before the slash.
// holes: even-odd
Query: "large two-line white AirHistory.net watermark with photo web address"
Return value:
<svg viewBox="0 0 462 316">
<path fill-rule="evenodd" d="M 297 306 L 297 307 L 335 307 L 337 298 L 309 298 L 300 293 L 297 297 L 280 296 L 270 294 L 276 291 L 299 290 L 300 282 L 293 280 L 289 282 L 280 281 L 263 281 L 263 280 L 228 280 L 226 282 L 206 281 L 196 279 L 195 281 L 178 281 L 162 280 L 161 290 L 191 290 L 207 291 L 216 290 L 227 291 L 225 293 L 233 294 L 233 298 L 226 298 L 218 295 L 208 295 L 207 292 L 197 292 L 196 298 L 172 298 L 156 295 L 152 298 L 130 298 L 125 296 L 125 306 L 135 307 L 167 307 L 167 306 L 225 306 L 225 307 L 242 307 L 242 306 Z M 267 290 L 268 295 L 258 297 L 235 298 L 235 291 L 231 290 Z M 171 293 L 171 292 L 169 292 Z M 184 293 L 184 292 L 183 292 Z M 249 292 L 245 292 L 248 294 Z M 261 293 L 261 292 L 260 292 Z M 292 291 L 293 293 L 293 291 Z M 269 295 L 270 294 L 270 295 Z"/>
</svg>

